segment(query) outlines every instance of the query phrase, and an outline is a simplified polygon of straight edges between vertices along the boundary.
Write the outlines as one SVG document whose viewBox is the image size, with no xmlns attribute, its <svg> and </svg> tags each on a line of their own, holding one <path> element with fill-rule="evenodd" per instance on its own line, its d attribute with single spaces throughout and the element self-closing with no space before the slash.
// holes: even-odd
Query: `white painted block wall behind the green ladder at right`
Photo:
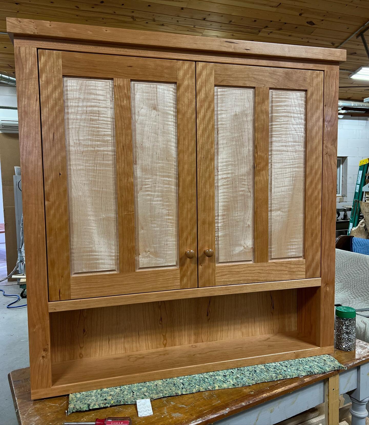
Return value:
<svg viewBox="0 0 369 425">
<path fill-rule="evenodd" d="M 359 161 L 369 158 L 369 119 L 344 117 L 338 119 L 337 156 L 344 157 L 343 199 L 337 198 L 337 207 L 352 205 L 358 177 Z"/>
</svg>

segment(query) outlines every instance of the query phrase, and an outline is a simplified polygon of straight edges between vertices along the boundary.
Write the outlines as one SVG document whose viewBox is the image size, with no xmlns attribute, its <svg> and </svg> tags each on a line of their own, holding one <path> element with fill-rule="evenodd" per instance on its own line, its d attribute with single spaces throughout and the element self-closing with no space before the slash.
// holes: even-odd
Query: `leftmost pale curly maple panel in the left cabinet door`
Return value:
<svg viewBox="0 0 369 425">
<path fill-rule="evenodd" d="M 63 78 L 70 270 L 118 271 L 113 81 Z"/>
</svg>

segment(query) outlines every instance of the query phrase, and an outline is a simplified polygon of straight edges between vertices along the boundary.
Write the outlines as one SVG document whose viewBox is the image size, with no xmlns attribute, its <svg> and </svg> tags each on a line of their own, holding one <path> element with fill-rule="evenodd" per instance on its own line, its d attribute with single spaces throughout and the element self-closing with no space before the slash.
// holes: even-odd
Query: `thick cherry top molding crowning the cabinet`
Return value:
<svg viewBox="0 0 369 425">
<path fill-rule="evenodd" d="M 6 18 L 6 31 L 11 38 L 14 36 L 51 40 L 61 39 L 90 43 L 113 43 L 121 47 L 139 46 L 245 56 L 310 59 L 324 62 L 344 62 L 346 60 L 346 50 L 341 49 L 228 40 L 225 38 L 108 28 L 33 19 Z"/>
</svg>

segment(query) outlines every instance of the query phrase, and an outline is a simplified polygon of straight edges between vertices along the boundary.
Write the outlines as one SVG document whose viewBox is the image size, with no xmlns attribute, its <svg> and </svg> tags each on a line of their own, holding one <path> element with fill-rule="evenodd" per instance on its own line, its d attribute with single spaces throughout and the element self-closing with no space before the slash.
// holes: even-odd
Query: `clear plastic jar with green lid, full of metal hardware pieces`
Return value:
<svg viewBox="0 0 369 425">
<path fill-rule="evenodd" d="M 338 306 L 335 311 L 335 348 L 354 351 L 356 346 L 356 310 Z"/>
</svg>

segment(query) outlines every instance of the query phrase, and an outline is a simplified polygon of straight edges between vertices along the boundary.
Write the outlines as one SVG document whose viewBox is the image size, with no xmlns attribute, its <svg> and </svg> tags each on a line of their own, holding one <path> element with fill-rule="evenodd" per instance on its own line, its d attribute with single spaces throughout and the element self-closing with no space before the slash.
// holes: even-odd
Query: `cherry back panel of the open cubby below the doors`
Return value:
<svg viewBox="0 0 369 425">
<path fill-rule="evenodd" d="M 297 329 L 296 290 L 50 314 L 53 362 Z"/>
</svg>

